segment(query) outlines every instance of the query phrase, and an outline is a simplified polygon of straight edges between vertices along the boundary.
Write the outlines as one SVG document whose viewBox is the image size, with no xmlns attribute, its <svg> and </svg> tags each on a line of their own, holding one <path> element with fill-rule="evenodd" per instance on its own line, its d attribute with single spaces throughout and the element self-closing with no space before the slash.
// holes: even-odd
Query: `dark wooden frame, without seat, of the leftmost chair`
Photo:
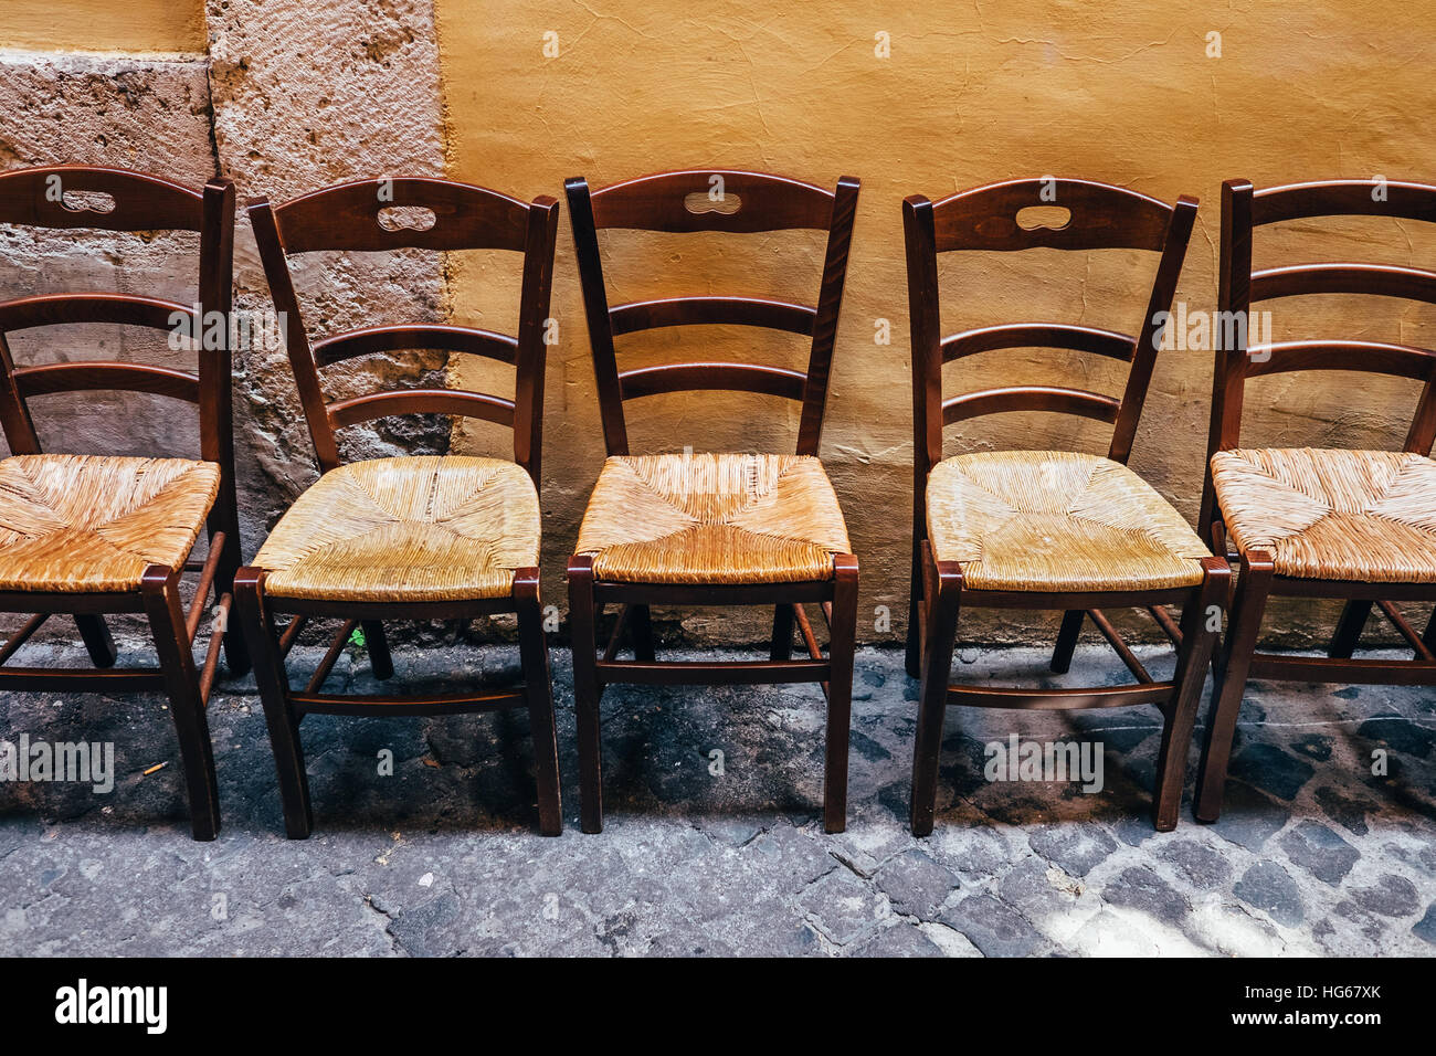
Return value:
<svg viewBox="0 0 1436 1056">
<path fill-rule="evenodd" d="M 62 188 L 106 194 L 109 211 L 70 207 Z M 177 230 L 200 234 L 200 305 L 180 305 L 149 296 L 118 293 L 50 293 L 0 303 L 0 422 L 11 454 L 40 454 L 29 399 L 37 395 L 89 391 L 129 391 L 171 397 L 198 405 L 201 458 L 220 467 L 218 494 L 205 516 L 208 552 L 187 557 L 177 570 L 149 565 L 135 589 L 106 592 L 4 590 L 0 612 L 30 613 L 0 647 L 0 690 L 19 693 L 164 691 L 180 741 L 191 835 L 213 840 L 220 833 L 220 796 L 210 743 L 207 708 L 221 654 L 228 672 L 250 670 L 238 634 L 225 634 L 234 573 L 240 566 L 240 524 L 234 481 L 231 381 L 228 342 L 200 352 L 198 375 L 129 362 L 60 362 L 16 366 L 6 333 L 62 325 L 115 323 L 172 329 L 182 318 L 188 333 L 204 332 L 204 320 L 231 305 L 234 249 L 234 185 L 215 180 L 197 191 L 159 177 L 119 168 L 50 165 L 0 174 L 0 223 L 47 228 L 106 231 Z M 213 343 L 213 342 L 210 342 Z M 192 555 L 192 547 L 191 547 Z M 181 580 L 198 573 L 185 608 Z M 158 668 L 115 667 L 118 651 L 105 616 L 144 615 L 155 644 Z M 90 670 L 13 667 L 9 661 L 55 615 L 69 615 L 85 642 Z M 205 616 L 210 621 L 205 622 Z M 202 662 L 194 647 L 208 631 Z"/>
</svg>

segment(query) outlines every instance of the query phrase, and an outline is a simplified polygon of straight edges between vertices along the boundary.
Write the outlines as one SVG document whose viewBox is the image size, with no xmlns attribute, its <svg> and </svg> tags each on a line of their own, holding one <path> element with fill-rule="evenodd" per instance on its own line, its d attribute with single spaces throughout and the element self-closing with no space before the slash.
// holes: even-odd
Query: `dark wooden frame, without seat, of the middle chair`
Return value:
<svg viewBox="0 0 1436 1056">
<path fill-rule="evenodd" d="M 725 194 L 738 197 L 737 211 L 691 211 L 685 201 L 708 195 L 712 177 Z M 859 181 L 839 180 L 827 191 L 763 172 L 691 170 L 659 172 L 590 191 L 582 177 L 566 182 L 579 274 L 583 284 L 589 341 L 609 455 L 629 453 L 625 402 L 662 392 L 727 389 L 764 392 L 800 401 L 797 454 L 817 455 L 847 272 Z M 760 297 L 673 297 L 636 305 L 607 303 L 597 231 L 826 230 L 827 250 L 816 307 Z M 638 371 L 617 369 L 615 335 L 661 326 L 731 323 L 788 330 L 811 338 L 806 372 L 747 363 L 669 363 Z M 758 685 L 817 682 L 827 703 L 823 764 L 823 826 L 847 826 L 847 750 L 852 724 L 853 657 L 857 641 L 857 557 L 833 556 L 830 579 L 787 583 L 681 585 L 635 583 L 596 578 L 593 555 L 569 559 L 569 621 L 573 639 L 573 685 L 579 731 L 582 828 L 603 830 L 603 747 L 599 705 L 615 684 Z M 659 661 L 655 657 L 651 606 L 774 606 L 768 659 Z M 817 605 L 829 625 L 829 649 L 813 632 L 807 605 Z M 617 618 L 602 654 L 597 626 L 616 608 Z M 794 659 L 794 629 L 806 658 Z M 625 636 L 633 659 L 619 659 Z"/>
</svg>

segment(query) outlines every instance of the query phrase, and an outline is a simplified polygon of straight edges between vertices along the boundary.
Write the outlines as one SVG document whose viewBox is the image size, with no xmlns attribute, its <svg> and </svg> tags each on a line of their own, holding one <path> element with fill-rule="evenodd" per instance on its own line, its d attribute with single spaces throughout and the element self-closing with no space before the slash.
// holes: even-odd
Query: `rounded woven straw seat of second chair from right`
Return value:
<svg viewBox="0 0 1436 1056">
<path fill-rule="evenodd" d="M 1160 590 L 1202 582 L 1211 552 L 1120 463 L 1070 451 L 984 451 L 928 478 L 928 534 L 974 590 Z"/>
</svg>

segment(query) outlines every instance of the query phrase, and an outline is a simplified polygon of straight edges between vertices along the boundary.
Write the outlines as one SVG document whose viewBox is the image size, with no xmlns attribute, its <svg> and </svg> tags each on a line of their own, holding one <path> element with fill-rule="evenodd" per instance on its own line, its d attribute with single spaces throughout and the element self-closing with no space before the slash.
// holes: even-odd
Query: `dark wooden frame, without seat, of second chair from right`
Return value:
<svg viewBox="0 0 1436 1056">
<path fill-rule="evenodd" d="M 1044 191 L 1055 191 L 1055 201 Z M 1061 228 L 1025 228 L 1017 213 L 1034 205 L 1064 205 L 1071 218 Z M 1216 642 L 1211 612 L 1226 605 L 1231 570 L 1216 557 L 1193 559 L 1200 580 L 1190 588 L 1144 590 L 985 590 L 964 583 L 961 562 L 938 560 L 928 537 L 926 487 L 942 461 L 942 430 L 968 418 L 1005 411 L 1080 414 L 1114 427 L 1107 457 L 1126 464 L 1162 336 L 1160 320 L 1172 306 L 1182 259 L 1196 214 L 1183 195 L 1166 205 L 1146 195 L 1083 180 L 1014 180 L 961 191 L 936 204 L 923 195 L 903 203 L 908 250 L 908 299 L 913 341 L 913 569 L 908 621 L 908 674 L 918 678 L 918 734 L 913 746 L 910 825 L 915 836 L 933 829 L 942 727 L 951 704 L 1015 710 L 1073 710 L 1155 705 L 1163 717 L 1152 797 L 1157 830 L 1176 828 L 1186 774 L 1188 746 L 1196 723 L 1206 667 Z M 1160 261 L 1137 336 L 1057 323 L 1011 323 L 941 336 L 938 253 L 954 250 L 1140 249 Z M 942 399 L 945 362 L 1008 348 L 1066 348 L 1132 363 L 1123 398 L 1058 386 L 1012 386 Z M 1182 606 L 1180 624 L 1166 611 Z M 1134 682 L 1078 690 L 978 688 L 952 684 L 958 622 L 969 608 L 1064 611 L 1051 670 L 1064 674 L 1083 624 L 1091 624 L 1132 672 Z M 1123 641 L 1104 609 L 1140 608 L 1178 649 L 1170 680 L 1155 680 Z"/>
</svg>

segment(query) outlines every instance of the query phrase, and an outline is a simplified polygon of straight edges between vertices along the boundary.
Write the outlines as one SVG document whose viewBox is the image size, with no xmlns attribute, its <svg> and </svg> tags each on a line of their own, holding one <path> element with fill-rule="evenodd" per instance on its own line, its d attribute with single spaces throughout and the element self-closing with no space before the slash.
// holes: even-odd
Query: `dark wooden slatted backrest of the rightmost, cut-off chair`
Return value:
<svg viewBox="0 0 1436 1056">
<path fill-rule="evenodd" d="M 1396 217 L 1436 223 L 1436 187 L 1386 180 L 1333 180 L 1258 191 L 1246 180 L 1222 184 L 1219 320 L 1213 326 L 1211 455 L 1241 444 L 1248 378 L 1288 371 L 1361 371 L 1425 382 L 1406 451 L 1436 441 L 1436 352 L 1373 341 L 1292 341 L 1248 345 L 1251 306 L 1311 293 L 1363 293 L 1436 305 L 1436 272 L 1381 264 L 1315 263 L 1252 270 L 1252 231 L 1287 220 Z"/>
</svg>

